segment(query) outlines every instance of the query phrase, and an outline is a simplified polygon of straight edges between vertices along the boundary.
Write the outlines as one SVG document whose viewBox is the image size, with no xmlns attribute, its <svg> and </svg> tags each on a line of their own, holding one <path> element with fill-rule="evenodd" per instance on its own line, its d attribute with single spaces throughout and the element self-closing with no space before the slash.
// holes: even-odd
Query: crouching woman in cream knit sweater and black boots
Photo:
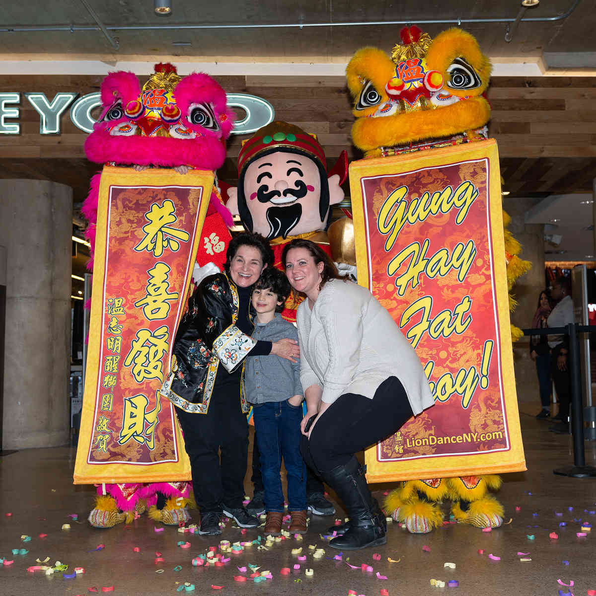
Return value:
<svg viewBox="0 0 596 596">
<path fill-rule="evenodd" d="M 292 240 L 282 262 L 292 287 L 307 297 L 296 314 L 307 405 L 302 455 L 350 517 L 333 527 L 341 534 L 329 545 L 384 544 L 385 519 L 354 454 L 432 406 L 429 384 L 389 313 L 366 288 L 344 281 L 318 245 Z"/>
</svg>

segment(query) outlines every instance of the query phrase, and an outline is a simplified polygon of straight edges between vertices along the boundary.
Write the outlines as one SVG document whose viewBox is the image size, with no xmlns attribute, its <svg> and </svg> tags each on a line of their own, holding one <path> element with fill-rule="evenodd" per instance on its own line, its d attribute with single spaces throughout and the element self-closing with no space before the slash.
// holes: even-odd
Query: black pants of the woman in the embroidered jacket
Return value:
<svg viewBox="0 0 596 596">
<path fill-rule="evenodd" d="M 194 498 L 201 513 L 242 507 L 249 426 L 240 409 L 240 387 L 216 387 L 207 414 L 176 408 L 190 458 Z M 219 456 L 221 449 L 221 462 Z"/>
</svg>

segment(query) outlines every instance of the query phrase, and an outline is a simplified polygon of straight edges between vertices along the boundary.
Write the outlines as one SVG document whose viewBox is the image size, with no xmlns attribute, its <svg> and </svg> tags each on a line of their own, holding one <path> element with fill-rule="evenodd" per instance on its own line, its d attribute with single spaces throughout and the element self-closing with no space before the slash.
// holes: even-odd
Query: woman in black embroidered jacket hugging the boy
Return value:
<svg viewBox="0 0 596 596">
<path fill-rule="evenodd" d="M 252 287 L 272 263 L 273 252 L 259 234 L 233 238 L 225 271 L 200 283 L 174 340 L 162 395 L 176 406 L 184 433 L 201 534 L 221 533 L 222 513 L 241 527 L 259 523 L 242 504 L 249 409 L 241 392 L 244 359 L 272 353 L 294 361 L 299 355 L 294 340 L 256 342 L 250 337 Z"/>
</svg>

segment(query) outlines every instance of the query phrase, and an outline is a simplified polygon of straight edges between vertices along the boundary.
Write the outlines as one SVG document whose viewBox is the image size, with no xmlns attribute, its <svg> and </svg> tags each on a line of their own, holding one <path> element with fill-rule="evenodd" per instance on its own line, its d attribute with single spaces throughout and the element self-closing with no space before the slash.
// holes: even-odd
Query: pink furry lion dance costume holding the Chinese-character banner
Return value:
<svg viewBox="0 0 596 596">
<path fill-rule="evenodd" d="M 85 141 L 85 154 L 99 164 L 115 166 L 173 167 L 185 173 L 188 167 L 216 170 L 224 163 L 225 139 L 234 124 L 234 113 L 226 106 L 224 89 L 204 73 L 180 77 L 172 64 L 156 64 L 155 73 L 142 86 L 131 72 L 110 73 L 101 83 L 101 116 Z M 101 173 L 91 179 L 83 215 L 89 225 L 85 236 L 91 243 L 93 263 L 95 224 Z M 232 216 L 221 200 L 215 182 L 203 232 L 215 231 L 218 254 L 197 254 L 195 283 L 221 265 L 228 244 Z M 215 233 L 214 232 L 214 233 Z M 220 246 L 222 245 L 222 246 Z M 201 273 L 201 267 L 203 273 Z M 205 271 L 206 270 L 206 271 Z M 100 485 L 89 523 L 113 527 L 129 523 L 147 508 L 152 519 L 178 526 L 190 520 L 190 482 Z"/>
</svg>

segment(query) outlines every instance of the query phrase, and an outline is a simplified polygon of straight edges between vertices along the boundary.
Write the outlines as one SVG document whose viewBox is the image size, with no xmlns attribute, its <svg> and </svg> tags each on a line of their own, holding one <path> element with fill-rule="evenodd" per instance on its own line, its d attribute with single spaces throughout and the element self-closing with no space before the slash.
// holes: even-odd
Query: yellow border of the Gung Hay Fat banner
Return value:
<svg viewBox="0 0 596 596">
<path fill-rule="evenodd" d="M 378 462 L 377 446 L 374 445 L 365 451 L 368 482 L 393 482 L 395 480 L 456 477 L 483 473 L 495 474 L 524 471 L 527 469 L 523 453 L 513 370 L 513 346 L 511 343 L 501 205 L 501 173 L 495 139 L 442 149 L 418 151 L 396 157 L 363 159 L 350 163 L 350 194 L 352 196 L 358 283 L 368 288 L 368 278 L 370 275 L 367 261 L 367 239 L 365 237 L 366 228 L 364 207 L 362 205 L 361 178 L 373 175 L 398 174 L 457 161 L 480 159 L 488 159 L 489 161 L 488 201 L 491 221 L 489 232 L 492 240 L 492 266 L 498 313 L 499 360 L 501 362 L 502 390 L 505 403 L 505 424 L 508 427 L 510 448 L 508 451 L 497 451 L 489 454 L 442 455 L 441 457 L 426 457 L 418 460 L 404 460 L 403 462 Z M 401 469 L 399 471 L 390 470 L 392 465 L 399 465 Z M 385 469 L 383 470 L 383 468 Z"/>
</svg>

